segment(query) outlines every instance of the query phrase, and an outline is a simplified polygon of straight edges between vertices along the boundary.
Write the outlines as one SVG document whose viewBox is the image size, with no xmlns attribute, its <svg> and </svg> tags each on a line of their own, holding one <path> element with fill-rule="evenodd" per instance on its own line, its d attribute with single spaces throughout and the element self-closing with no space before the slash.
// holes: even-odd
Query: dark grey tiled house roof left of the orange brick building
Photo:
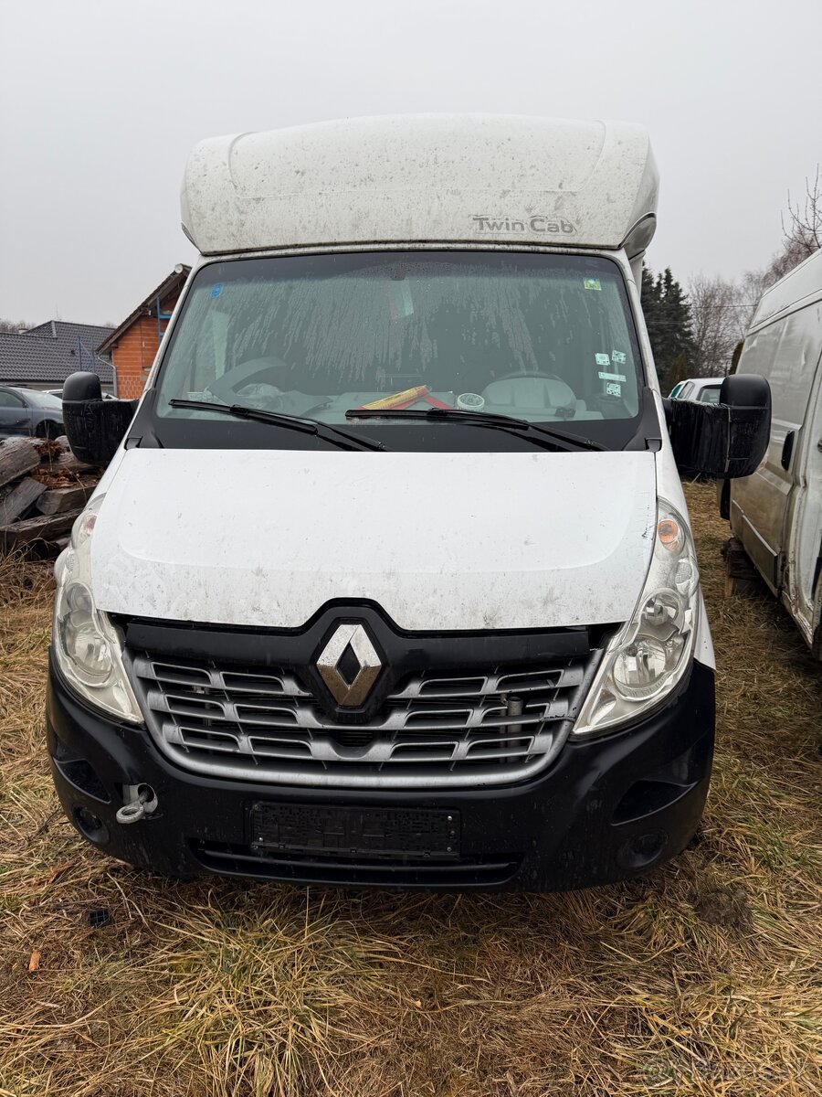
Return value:
<svg viewBox="0 0 822 1097">
<path fill-rule="evenodd" d="M 54 384 L 78 370 L 96 373 L 104 385 L 114 381 L 114 369 L 96 349 L 111 328 L 93 324 L 48 320 L 30 331 L 0 332 L 0 382 Z"/>
</svg>

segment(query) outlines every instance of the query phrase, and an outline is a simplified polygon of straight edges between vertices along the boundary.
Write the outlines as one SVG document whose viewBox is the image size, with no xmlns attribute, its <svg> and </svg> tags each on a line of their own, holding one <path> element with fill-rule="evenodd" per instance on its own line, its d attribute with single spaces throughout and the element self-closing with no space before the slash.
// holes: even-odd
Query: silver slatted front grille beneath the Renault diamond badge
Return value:
<svg viewBox="0 0 822 1097">
<path fill-rule="evenodd" d="M 408 675 L 375 719 L 330 717 L 293 671 L 132 653 L 149 731 L 185 769 L 350 788 L 502 784 L 545 768 L 568 737 L 587 657 L 484 674 Z"/>
</svg>

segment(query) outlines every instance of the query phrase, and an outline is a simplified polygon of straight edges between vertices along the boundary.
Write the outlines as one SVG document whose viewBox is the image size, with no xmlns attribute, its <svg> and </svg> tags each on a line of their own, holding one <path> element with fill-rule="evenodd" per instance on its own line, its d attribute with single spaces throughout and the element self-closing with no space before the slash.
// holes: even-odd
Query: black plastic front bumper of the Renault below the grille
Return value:
<svg viewBox="0 0 822 1097">
<path fill-rule="evenodd" d="M 699 823 L 713 753 L 713 671 L 698 663 L 663 709 L 590 742 L 569 740 L 548 771 L 489 789 L 390 792 L 272 787 L 186 772 L 145 727 L 93 713 L 50 665 L 46 727 L 66 814 L 104 852 L 173 875 L 203 872 L 300 883 L 564 891 L 639 875 L 678 853 Z M 122 825 L 124 785 L 158 807 Z M 386 859 L 260 849 L 255 803 L 426 808 L 459 819 L 459 848 Z"/>
</svg>

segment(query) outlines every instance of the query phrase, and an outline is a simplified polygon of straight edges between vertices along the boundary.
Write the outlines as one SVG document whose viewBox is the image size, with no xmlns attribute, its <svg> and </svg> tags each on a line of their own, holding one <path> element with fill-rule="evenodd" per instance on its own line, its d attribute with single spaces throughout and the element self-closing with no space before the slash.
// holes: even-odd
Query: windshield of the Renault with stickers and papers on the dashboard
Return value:
<svg viewBox="0 0 822 1097">
<path fill-rule="evenodd" d="M 389 416 L 359 421 L 346 412 L 492 412 L 559 423 L 567 434 L 620 448 L 639 415 L 642 381 L 616 263 L 396 251 L 204 267 L 158 386 L 159 420 L 184 419 L 192 427 L 218 417 L 171 400 L 243 405 L 370 436 L 380 428 L 397 449 L 427 423 Z M 466 429 L 449 419 L 434 436 Z M 488 443 L 490 432 L 482 433 Z M 499 444 L 506 445 L 502 438 Z"/>
</svg>

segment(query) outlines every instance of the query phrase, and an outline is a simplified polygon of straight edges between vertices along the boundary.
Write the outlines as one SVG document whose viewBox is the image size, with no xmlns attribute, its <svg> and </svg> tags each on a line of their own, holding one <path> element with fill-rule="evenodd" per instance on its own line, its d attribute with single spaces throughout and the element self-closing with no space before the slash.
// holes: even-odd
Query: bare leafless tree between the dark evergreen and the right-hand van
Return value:
<svg viewBox="0 0 822 1097">
<path fill-rule="evenodd" d="M 697 376 L 724 376 L 733 348 L 744 335 L 746 305 L 739 290 L 721 278 L 698 274 L 688 284 Z"/>
</svg>

